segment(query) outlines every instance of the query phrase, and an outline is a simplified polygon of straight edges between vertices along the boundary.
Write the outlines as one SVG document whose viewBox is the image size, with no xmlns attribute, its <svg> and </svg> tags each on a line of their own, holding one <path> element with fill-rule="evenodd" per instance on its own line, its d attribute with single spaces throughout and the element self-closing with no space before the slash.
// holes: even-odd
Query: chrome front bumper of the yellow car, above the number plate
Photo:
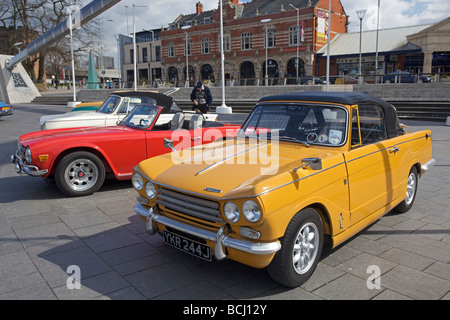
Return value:
<svg viewBox="0 0 450 320">
<path fill-rule="evenodd" d="M 217 233 L 214 233 L 180 222 L 178 220 L 162 216 L 155 212 L 153 208 L 147 210 L 141 204 L 137 204 L 134 207 L 134 211 L 138 215 L 146 219 L 147 233 L 149 233 L 150 235 L 154 235 L 157 231 L 155 223 L 160 223 L 162 225 L 165 225 L 166 227 L 170 227 L 192 236 L 214 242 L 214 257 L 217 260 L 222 260 L 226 257 L 225 248 L 231 248 L 255 255 L 273 254 L 281 249 L 281 244 L 279 241 L 266 243 L 234 239 L 227 234 L 227 228 L 225 227 L 219 229 Z"/>
</svg>

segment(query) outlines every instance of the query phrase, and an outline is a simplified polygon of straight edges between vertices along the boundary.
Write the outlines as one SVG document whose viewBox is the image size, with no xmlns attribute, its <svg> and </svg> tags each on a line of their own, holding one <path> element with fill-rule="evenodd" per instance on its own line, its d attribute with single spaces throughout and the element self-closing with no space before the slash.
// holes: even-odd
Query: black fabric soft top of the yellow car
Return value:
<svg viewBox="0 0 450 320">
<path fill-rule="evenodd" d="M 280 95 L 267 96 L 258 103 L 265 102 L 295 102 L 306 101 L 316 103 L 337 103 L 342 105 L 377 104 L 384 110 L 387 133 L 389 138 L 397 137 L 404 133 L 400 127 L 397 110 L 385 100 L 358 92 L 292 92 Z"/>
</svg>

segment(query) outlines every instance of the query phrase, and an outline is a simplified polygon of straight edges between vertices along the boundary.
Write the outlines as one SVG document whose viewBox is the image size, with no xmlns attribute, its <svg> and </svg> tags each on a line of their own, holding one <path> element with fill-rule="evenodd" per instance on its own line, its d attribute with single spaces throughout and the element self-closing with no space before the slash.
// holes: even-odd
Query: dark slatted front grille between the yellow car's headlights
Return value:
<svg viewBox="0 0 450 320">
<path fill-rule="evenodd" d="M 224 222 L 220 217 L 219 203 L 160 188 L 156 203 L 169 210 L 211 222 Z"/>
</svg>

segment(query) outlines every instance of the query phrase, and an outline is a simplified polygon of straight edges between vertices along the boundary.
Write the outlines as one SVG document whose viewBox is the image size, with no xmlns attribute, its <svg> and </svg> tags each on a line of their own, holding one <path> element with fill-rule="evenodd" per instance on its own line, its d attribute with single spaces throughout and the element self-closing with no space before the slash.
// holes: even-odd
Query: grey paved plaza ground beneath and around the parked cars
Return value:
<svg viewBox="0 0 450 320">
<path fill-rule="evenodd" d="M 107 181 L 92 196 L 67 198 L 54 184 L 16 174 L 10 154 L 18 137 L 39 130 L 41 115 L 67 111 L 24 104 L 0 118 L 2 300 L 450 299 L 450 126 L 445 123 L 403 121 L 412 131 L 432 130 L 437 160 L 419 181 L 413 208 L 389 213 L 324 252 L 312 278 L 291 289 L 271 280 L 266 270 L 204 262 L 147 235 L 133 211 L 137 193 L 130 181 Z M 78 274 L 80 289 L 69 278 Z"/>
</svg>

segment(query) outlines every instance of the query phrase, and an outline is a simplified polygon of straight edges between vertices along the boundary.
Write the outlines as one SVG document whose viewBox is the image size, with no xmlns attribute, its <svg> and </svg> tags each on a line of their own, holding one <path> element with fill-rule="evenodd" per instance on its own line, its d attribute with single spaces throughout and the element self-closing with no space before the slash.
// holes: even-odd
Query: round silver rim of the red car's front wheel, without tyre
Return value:
<svg viewBox="0 0 450 320">
<path fill-rule="evenodd" d="M 88 190 L 97 182 L 97 179 L 97 166 L 88 159 L 77 159 L 71 162 L 64 172 L 64 180 L 75 191 Z"/>
</svg>

